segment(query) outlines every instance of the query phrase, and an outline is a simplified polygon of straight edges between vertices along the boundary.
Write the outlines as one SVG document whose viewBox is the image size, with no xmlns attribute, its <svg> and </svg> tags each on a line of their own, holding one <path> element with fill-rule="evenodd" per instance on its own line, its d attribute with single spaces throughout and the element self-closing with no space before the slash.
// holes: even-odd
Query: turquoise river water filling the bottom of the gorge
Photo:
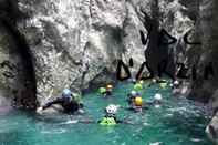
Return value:
<svg viewBox="0 0 218 145">
<path fill-rule="evenodd" d="M 206 135 L 208 117 L 185 99 L 170 96 L 170 90 L 152 86 L 144 90 L 143 97 L 152 101 L 159 91 L 164 105 L 150 107 L 144 114 L 121 108 L 118 118 L 128 120 L 134 125 L 118 124 L 68 124 L 71 118 L 95 120 L 103 116 L 103 108 L 110 104 L 127 106 L 125 99 L 132 84 L 120 84 L 113 99 L 103 99 L 97 93 L 85 95 L 86 114 L 82 116 L 42 117 L 33 113 L 12 111 L 0 116 L 0 145 L 212 145 Z"/>
</svg>

